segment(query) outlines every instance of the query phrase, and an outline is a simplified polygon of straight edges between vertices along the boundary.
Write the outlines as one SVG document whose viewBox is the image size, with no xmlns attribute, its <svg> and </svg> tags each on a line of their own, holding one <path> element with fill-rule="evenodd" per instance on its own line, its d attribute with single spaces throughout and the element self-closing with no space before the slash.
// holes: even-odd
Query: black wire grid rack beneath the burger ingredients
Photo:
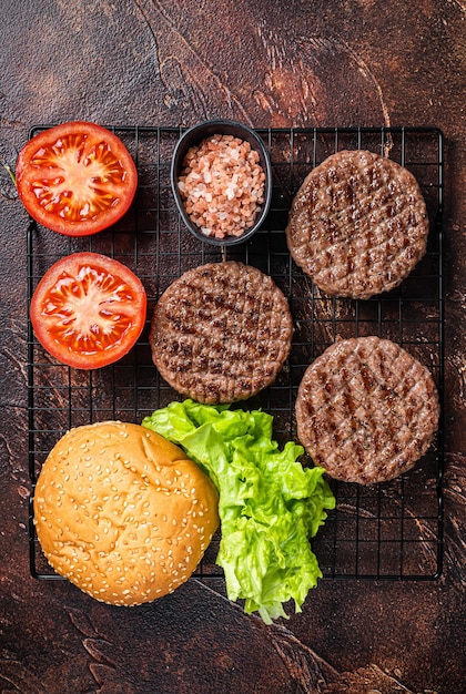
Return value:
<svg viewBox="0 0 466 694">
<path fill-rule="evenodd" d="M 34 126 L 30 135 L 45 125 Z M 290 300 L 295 320 L 291 357 L 276 382 L 241 404 L 274 416 L 280 441 L 296 439 L 294 401 L 308 364 L 337 336 L 378 335 L 405 347 L 430 368 L 443 404 L 443 136 L 429 127 L 259 130 L 270 151 L 273 200 L 266 224 L 247 244 L 223 253 L 193 242 L 175 208 L 170 163 L 178 127 L 112 126 L 132 154 L 139 190 L 130 213 L 111 231 L 68 238 L 31 223 L 28 231 L 28 297 L 53 262 L 77 251 L 115 257 L 145 285 L 148 323 L 141 339 L 121 361 L 95 371 L 59 365 L 36 340 L 29 324 L 30 568 L 38 579 L 57 579 L 38 544 L 32 494 L 41 465 L 70 428 L 104 419 L 140 422 L 152 410 L 180 399 L 152 365 L 148 341 L 152 308 L 185 271 L 206 262 L 239 259 L 273 277 Z M 403 164 L 416 176 L 430 220 L 426 256 L 395 290 L 366 302 L 321 294 L 292 263 L 284 228 L 300 184 L 326 156 L 343 149 L 367 149 Z M 442 572 L 443 427 L 428 453 L 393 482 L 359 487 L 331 481 L 337 508 L 313 542 L 324 578 L 432 580 Z M 221 576 L 215 567 L 219 538 L 196 575 Z"/>
</svg>

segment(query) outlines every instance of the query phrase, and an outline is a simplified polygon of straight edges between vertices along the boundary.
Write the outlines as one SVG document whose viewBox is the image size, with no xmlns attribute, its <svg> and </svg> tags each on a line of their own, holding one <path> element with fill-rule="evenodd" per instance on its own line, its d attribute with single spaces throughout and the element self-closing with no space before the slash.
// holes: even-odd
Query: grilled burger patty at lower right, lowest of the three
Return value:
<svg viewBox="0 0 466 694">
<path fill-rule="evenodd" d="M 332 477 L 369 484 L 409 470 L 438 426 L 428 369 L 378 337 L 336 341 L 307 368 L 296 398 L 297 436 Z"/>
</svg>

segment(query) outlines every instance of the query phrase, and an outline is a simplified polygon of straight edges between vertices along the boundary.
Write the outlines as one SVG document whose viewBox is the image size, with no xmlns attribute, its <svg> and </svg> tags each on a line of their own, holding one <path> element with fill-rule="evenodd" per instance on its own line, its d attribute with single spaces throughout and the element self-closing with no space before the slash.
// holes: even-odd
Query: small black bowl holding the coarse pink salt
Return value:
<svg viewBox="0 0 466 694">
<path fill-rule="evenodd" d="M 240 137 L 241 140 L 249 142 L 251 147 L 259 152 L 260 164 L 265 173 L 264 202 L 262 203 L 261 208 L 255 216 L 253 225 L 246 228 L 241 234 L 241 236 L 226 236 L 225 238 L 215 238 L 214 236 L 207 236 L 206 234 L 203 234 L 200 227 L 196 224 L 193 224 L 193 222 L 190 220 L 190 216 L 186 214 L 184 203 L 179 191 L 178 180 L 182 171 L 184 156 L 188 150 L 192 146 L 199 145 L 202 140 L 211 137 L 212 135 L 233 135 L 234 137 Z M 171 182 L 176 206 L 183 218 L 184 224 L 188 226 L 190 232 L 194 234 L 194 236 L 196 236 L 200 241 L 205 241 L 206 243 L 214 246 L 233 246 L 244 243 L 245 241 L 251 238 L 251 236 L 263 224 L 271 205 L 272 169 L 264 142 L 254 130 L 247 127 L 247 125 L 237 123 L 236 121 L 205 121 L 186 130 L 186 132 L 180 137 L 173 153 Z"/>
</svg>

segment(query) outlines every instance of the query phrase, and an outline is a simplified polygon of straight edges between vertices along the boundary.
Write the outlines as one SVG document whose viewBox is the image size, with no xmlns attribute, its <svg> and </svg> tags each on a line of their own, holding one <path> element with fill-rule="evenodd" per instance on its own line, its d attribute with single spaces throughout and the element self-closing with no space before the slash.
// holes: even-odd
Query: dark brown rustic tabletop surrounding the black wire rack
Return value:
<svg viewBox="0 0 466 694">
<path fill-rule="evenodd" d="M 0 691 L 465 691 L 464 0 L 2 0 L 0 160 L 30 125 L 435 125 L 445 137 L 445 567 L 438 581 L 323 581 L 266 627 L 190 581 L 130 611 L 28 563 L 27 215 L 0 171 Z"/>
</svg>

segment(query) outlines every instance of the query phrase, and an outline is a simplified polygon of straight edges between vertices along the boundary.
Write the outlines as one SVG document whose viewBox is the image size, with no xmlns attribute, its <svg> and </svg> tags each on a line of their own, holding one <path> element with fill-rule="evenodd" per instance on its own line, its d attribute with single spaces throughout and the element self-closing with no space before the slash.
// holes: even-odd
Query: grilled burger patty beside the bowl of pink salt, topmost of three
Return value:
<svg viewBox="0 0 466 694">
<path fill-rule="evenodd" d="M 427 234 L 413 174 L 362 150 L 311 171 L 286 227 L 292 257 L 321 289 L 362 299 L 396 287 L 425 254 Z"/>
</svg>

